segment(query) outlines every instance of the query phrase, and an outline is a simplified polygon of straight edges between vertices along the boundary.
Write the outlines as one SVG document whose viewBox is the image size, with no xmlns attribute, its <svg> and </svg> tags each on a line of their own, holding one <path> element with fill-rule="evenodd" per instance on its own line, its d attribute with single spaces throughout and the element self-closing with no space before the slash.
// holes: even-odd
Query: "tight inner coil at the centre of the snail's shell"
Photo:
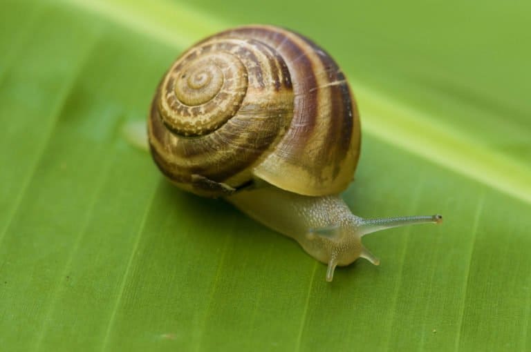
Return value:
<svg viewBox="0 0 531 352">
<path fill-rule="evenodd" d="M 239 57 L 201 51 L 177 61 L 162 84 L 160 116 L 183 136 L 212 133 L 236 114 L 247 92 L 247 70 Z"/>
</svg>

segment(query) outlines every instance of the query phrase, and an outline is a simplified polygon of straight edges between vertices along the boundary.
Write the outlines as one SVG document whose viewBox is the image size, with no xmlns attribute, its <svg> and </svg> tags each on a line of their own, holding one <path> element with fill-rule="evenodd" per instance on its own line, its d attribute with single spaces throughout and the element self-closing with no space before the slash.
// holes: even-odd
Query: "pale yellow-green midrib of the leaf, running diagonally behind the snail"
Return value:
<svg viewBox="0 0 531 352">
<path fill-rule="evenodd" d="M 149 6 L 144 6 L 145 0 L 65 2 L 179 50 L 205 35 L 230 27 L 230 23 L 185 3 L 179 3 L 177 11 L 173 3 L 163 0 L 149 1 Z M 429 113 L 412 109 L 358 81 L 351 80 L 351 84 L 362 107 L 364 133 L 531 204 L 530 167 L 481 144 L 454 126 L 443 124 Z"/>
</svg>

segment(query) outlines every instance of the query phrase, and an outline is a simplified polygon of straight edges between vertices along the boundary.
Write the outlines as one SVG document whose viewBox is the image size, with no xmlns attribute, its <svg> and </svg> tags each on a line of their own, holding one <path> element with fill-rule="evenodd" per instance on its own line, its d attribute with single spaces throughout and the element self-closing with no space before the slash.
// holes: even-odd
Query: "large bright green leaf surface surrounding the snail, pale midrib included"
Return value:
<svg viewBox="0 0 531 352">
<path fill-rule="evenodd" d="M 351 81 L 364 238 L 332 284 L 171 186 L 122 130 L 187 46 L 292 28 Z M 0 11 L 1 351 L 529 351 L 529 1 L 12 1 Z"/>
</svg>

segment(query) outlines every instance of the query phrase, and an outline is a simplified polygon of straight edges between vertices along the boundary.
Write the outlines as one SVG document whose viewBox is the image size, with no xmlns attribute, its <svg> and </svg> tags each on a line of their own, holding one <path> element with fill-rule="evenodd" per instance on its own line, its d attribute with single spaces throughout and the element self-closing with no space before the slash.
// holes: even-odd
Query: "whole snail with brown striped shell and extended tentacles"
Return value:
<svg viewBox="0 0 531 352">
<path fill-rule="evenodd" d="M 149 148 L 176 186 L 223 197 L 336 266 L 380 260 L 361 242 L 440 215 L 363 219 L 339 196 L 360 155 L 360 118 L 337 63 L 306 37 L 243 26 L 196 43 L 153 97 Z"/>
</svg>

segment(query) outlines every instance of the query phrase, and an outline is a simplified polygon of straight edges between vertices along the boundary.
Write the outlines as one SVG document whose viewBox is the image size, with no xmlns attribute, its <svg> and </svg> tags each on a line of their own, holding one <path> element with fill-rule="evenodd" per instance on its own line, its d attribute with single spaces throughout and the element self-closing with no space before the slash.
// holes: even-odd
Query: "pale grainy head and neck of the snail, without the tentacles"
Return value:
<svg viewBox="0 0 531 352">
<path fill-rule="evenodd" d="M 258 222 L 295 239 L 319 262 L 333 260 L 344 266 L 362 254 L 362 219 L 337 195 L 309 197 L 266 186 L 242 190 L 227 200 Z"/>
</svg>

